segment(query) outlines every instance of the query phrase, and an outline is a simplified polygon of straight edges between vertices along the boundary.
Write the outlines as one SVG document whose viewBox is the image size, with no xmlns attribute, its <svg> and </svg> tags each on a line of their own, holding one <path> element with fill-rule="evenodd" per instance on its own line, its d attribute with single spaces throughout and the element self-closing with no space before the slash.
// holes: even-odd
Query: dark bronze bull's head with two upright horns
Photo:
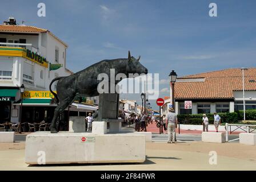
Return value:
<svg viewBox="0 0 256 182">
<path fill-rule="evenodd" d="M 147 68 L 145 68 L 139 62 L 140 58 L 141 58 L 141 56 L 139 56 L 138 59 L 135 59 L 133 56 L 131 56 L 130 51 L 128 52 L 127 71 L 129 73 L 138 73 L 139 75 L 141 75 L 142 73 L 147 74 Z"/>
</svg>

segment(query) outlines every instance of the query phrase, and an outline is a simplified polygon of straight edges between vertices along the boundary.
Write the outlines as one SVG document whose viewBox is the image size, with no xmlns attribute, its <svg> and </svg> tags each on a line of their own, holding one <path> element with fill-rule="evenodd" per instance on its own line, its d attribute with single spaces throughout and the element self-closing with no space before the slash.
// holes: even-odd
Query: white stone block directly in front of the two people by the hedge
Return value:
<svg viewBox="0 0 256 182">
<path fill-rule="evenodd" d="M 203 132 L 202 142 L 224 143 L 226 140 L 225 137 L 226 137 L 225 133 Z"/>
</svg>

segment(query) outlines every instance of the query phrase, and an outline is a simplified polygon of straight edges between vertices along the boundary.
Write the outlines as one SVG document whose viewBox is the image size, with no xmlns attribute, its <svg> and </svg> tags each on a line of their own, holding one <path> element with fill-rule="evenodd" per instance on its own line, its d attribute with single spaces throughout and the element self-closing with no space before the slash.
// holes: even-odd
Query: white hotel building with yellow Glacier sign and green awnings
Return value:
<svg viewBox="0 0 256 182">
<path fill-rule="evenodd" d="M 66 49 L 67 44 L 43 28 L 0 25 L 0 123 L 50 121 L 56 107 L 50 102 L 50 82 L 73 74 L 66 68 Z M 20 113 L 22 84 L 25 93 Z M 56 86 L 54 82 L 52 89 Z M 70 106 L 68 114 L 86 115 L 97 109 L 91 107 L 93 102 L 86 102 Z"/>
</svg>

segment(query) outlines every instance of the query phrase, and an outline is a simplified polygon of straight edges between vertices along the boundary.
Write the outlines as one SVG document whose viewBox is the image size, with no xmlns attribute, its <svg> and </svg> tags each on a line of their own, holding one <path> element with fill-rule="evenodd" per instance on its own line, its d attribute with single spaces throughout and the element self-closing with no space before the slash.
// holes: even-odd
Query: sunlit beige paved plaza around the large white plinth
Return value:
<svg viewBox="0 0 256 182">
<path fill-rule="evenodd" d="M 24 136 L 24 135 L 23 135 Z M 142 164 L 65 164 L 29 166 L 25 163 L 25 141 L 0 143 L 0 170 L 255 170 L 256 146 L 239 143 L 204 143 L 181 140 L 175 144 L 147 142 Z M 197 136 L 195 136 L 197 138 Z M 217 164 L 210 164 L 210 151 Z M 75 152 L 75 151 L 74 151 Z M 111 166 L 111 167 L 110 167 Z"/>
</svg>

